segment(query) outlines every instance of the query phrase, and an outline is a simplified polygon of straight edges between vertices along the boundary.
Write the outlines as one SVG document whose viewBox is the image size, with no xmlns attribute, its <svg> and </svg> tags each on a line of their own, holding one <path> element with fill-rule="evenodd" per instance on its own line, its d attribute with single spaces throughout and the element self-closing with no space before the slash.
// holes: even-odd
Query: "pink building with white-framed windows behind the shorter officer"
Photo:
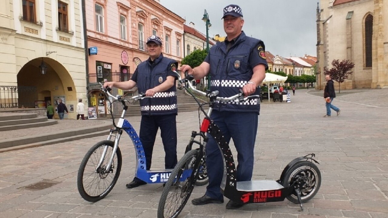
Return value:
<svg viewBox="0 0 388 218">
<path fill-rule="evenodd" d="M 163 39 L 166 57 L 182 61 L 185 20 L 159 0 L 87 0 L 87 43 L 90 105 L 106 116 L 99 82 L 127 81 L 137 64 L 148 58 L 145 41 Z"/>
</svg>

